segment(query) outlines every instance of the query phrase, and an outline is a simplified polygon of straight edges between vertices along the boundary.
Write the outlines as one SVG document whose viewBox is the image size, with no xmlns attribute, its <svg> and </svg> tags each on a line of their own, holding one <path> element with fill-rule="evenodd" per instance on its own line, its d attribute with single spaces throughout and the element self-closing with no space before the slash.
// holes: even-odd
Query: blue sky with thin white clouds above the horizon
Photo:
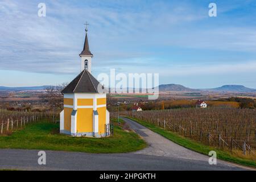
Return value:
<svg viewBox="0 0 256 182">
<path fill-rule="evenodd" d="M 46 17 L 38 4 L 46 3 Z M 217 5 L 217 17 L 208 5 Z M 80 71 L 159 73 L 160 84 L 256 88 L 256 1 L 0 1 L 0 85 L 56 85 Z"/>
</svg>

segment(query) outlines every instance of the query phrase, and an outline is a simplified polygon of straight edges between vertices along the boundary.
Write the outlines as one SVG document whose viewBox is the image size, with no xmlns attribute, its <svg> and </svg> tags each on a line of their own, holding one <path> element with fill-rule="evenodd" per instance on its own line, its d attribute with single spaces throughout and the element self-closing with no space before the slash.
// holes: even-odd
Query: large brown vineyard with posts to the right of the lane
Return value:
<svg viewBox="0 0 256 182">
<path fill-rule="evenodd" d="M 122 111 L 119 115 L 148 122 L 209 146 L 255 156 L 256 110 L 236 108 Z M 117 117 L 117 113 L 112 113 Z"/>
</svg>

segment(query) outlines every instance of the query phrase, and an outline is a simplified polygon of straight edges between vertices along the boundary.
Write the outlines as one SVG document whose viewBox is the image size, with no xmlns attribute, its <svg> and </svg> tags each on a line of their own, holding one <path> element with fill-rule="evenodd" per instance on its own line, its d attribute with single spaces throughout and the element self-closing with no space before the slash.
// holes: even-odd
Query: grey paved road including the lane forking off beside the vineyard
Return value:
<svg viewBox="0 0 256 182">
<path fill-rule="evenodd" d="M 187 150 L 124 118 L 149 147 L 126 154 L 86 154 L 46 151 L 47 164 L 38 164 L 39 150 L 0 150 L 0 169 L 23 170 L 242 170 L 225 162 L 209 165 L 208 157 Z"/>
</svg>

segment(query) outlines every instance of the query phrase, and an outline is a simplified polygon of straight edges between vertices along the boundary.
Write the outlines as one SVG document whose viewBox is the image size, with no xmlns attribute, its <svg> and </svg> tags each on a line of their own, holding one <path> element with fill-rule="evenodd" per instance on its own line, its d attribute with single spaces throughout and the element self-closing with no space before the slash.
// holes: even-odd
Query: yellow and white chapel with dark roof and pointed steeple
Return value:
<svg viewBox="0 0 256 182">
<path fill-rule="evenodd" d="M 64 109 L 60 113 L 60 133 L 74 137 L 106 137 L 109 111 L 106 93 L 98 90 L 99 82 L 91 74 L 93 54 L 85 29 L 84 49 L 80 53 L 81 72 L 63 90 Z"/>
</svg>

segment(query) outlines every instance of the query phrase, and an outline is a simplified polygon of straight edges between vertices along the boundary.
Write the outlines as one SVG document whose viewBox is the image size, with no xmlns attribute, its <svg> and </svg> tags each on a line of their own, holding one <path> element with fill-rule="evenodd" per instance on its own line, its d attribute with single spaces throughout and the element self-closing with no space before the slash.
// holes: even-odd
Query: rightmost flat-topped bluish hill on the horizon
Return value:
<svg viewBox="0 0 256 182">
<path fill-rule="evenodd" d="M 247 88 L 243 85 L 223 85 L 218 88 L 209 89 L 217 92 L 256 92 L 256 89 Z"/>
</svg>

